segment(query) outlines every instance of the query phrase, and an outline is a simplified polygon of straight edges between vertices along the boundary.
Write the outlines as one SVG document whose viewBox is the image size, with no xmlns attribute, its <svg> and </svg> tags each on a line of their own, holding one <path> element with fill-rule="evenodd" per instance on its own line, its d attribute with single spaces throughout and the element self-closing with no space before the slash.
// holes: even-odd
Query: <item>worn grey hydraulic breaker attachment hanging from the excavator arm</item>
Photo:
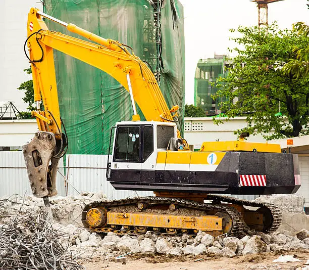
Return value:
<svg viewBox="0 0 309 270">
<path fill-rule="evenodd" d="M 57 195 L 56 175 L 59 158 L 55 155 L 56 139 L 52 132 L 38 131 L 23 153 L 32 194 L 38 198 Z M 47 198 L 44 198 L 44 201 Z"/>
</svg>

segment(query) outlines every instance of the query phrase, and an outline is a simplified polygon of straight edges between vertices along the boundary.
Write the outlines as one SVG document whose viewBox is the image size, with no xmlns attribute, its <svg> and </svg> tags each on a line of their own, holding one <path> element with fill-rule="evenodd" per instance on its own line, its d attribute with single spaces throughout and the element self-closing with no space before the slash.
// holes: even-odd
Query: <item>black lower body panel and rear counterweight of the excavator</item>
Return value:
<svg viewBox="0 0 309 270">
<path fill-rule="evenodd" d="M 240 175 L 266 175 L 266 187 L 240 186 Z M 227 152 L 215 171 L 111 170 L 115 189 L 222 194 L 290 194 L 299 189 L 293 154 Z M 140 177 L 140 178 L 139 178 Z"/>
</svg>

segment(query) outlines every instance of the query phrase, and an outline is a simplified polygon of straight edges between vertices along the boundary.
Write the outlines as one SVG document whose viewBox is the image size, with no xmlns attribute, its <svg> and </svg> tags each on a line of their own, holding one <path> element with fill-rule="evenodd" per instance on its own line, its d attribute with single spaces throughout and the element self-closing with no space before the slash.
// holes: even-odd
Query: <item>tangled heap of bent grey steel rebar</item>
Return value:
<svg viewBox="0 0 309 270">
<path fill-rule="evenodd" d="M 83 269 L 60 244 L 47 214 L 34 210 L 0 225 L 1 269 Z"/>
</svg>

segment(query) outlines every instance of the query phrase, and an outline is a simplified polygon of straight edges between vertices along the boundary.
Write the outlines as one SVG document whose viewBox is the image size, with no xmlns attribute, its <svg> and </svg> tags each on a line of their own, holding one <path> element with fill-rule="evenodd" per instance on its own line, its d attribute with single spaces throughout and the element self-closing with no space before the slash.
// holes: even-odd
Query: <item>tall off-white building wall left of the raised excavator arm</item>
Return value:
<svg viewBox="0 0 309 270">
<path fill-rule="evenodd" d="M 31 7 L 42 10 L 38 0 L 0 1 L 0 101 L 13 101 L 19 111 L 27 104 L 24 93 L 17 90 L 21 82 L 31 79 L 23 70 L 30 67 L 24 54 L 27 17 Z"/>
</svg>

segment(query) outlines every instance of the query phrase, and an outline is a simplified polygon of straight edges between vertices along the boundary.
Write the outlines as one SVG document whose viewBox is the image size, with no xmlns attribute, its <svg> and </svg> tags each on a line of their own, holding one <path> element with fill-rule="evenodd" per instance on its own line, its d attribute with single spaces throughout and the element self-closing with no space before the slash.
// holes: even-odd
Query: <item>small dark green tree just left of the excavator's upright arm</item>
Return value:
<svg viewBox="0 0 309 270">
<path fill-rule="evenodd" d="M 31 68 L 26 68 L 24 71 L 27 74 L 31 74 Z M 24 90 L 25 91 L 25 97 L 23 98 L 23 101 L 28 104 L 27 109 L 29 111 L 26 112 L 20 112 L 19 118 L 20 119 L 31 119 L 31 111 L 35 110 L 34 105 L 34 92 L 33 92 L 33 81 L 32 80 L 27 80 L 24 81 L 20 84 L 20 86 L 17 88 L 19 90 Z"/>
</svg>

